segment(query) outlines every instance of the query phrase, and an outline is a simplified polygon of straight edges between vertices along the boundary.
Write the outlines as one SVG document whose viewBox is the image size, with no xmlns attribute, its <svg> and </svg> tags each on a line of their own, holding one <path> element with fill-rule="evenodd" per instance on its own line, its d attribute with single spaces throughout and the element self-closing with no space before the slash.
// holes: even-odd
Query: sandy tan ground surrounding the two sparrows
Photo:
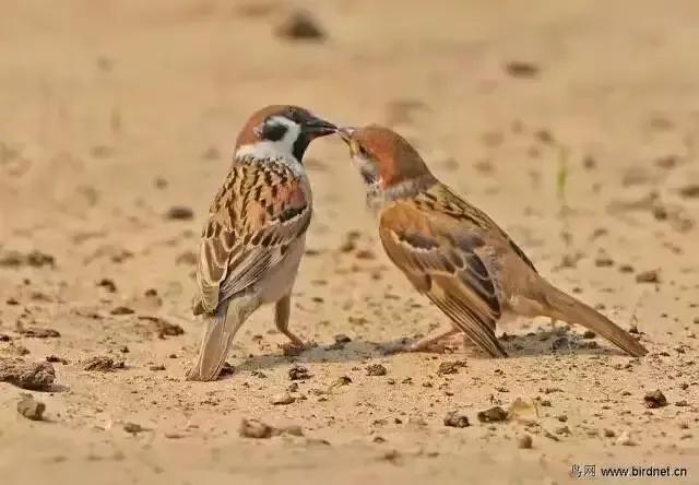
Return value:
<svg viewBox="0 0 699 485">
<path fill-rule="evenodd" d="M 296 8 L 324 38 L 274 33 Z M 1 483 L 562 484 L 576 463 L 687 466 L 684 483 L 699 483 L 699 3 L 1 9 L 0 357 L 60 360 L 50 392 L 33 393 L 43 422 L 17 413 L 26 391 L 0 383 Z M 383 355 L 445 317 L 391 268 L 328 138 L 307 154 L 317 209 L 292 315 L 318 346 L 283 356 L 262 309 L 232 375 L 185 381 L 198 234 L 237 130 L 270 103 L 393 126 L 543 274 L 636 327 L 651 353 L 533 321 L 501 329 L 507 360 L 459 342 Z M 85 370 L 96 356 L 125 368 Z M 289 380 L 295 364 L 308 378 Z M 377 364 L 386 375 L 367 375 Z M 649 409 L 656 389 L 668 404 Z M 284 392 L 295 402 L 273 405 Z M 479 423 L 518 399 L 509 422 Z M 445 426 L 452 411 L 471 426 Z M 241 437 L 242 418 L 304 436 Z"/>
</svg>

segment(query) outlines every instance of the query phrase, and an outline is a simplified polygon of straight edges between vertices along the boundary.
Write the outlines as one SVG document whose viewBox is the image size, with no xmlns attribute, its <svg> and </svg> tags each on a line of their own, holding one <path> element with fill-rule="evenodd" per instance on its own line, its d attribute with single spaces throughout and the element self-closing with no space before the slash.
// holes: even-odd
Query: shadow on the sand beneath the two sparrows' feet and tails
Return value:
<svg viewBox="0 0 699 485">
<path fill-rule="evenodd" d="M 372 359 L 389 358 L 392 350 L 410 345 L 418 339 L 402 338 L 382 342 L 354 340 L 347 343 L 333 343 L 329 345 L 312 345 L 297 355 L 282 354 L 254 355 L 244 359 L 235 366 L 236 371 L 259 371 L 289 364 L 313 363 L 366 363 Z M 529 358 L 542 355 L 625 355 L 623 352 L 597 343 L 596 340 L 582 339 L 561 329 L 540 330 L 526 334 L 502 334 L 500 342 L 506 348 L 509 358 Z M 448 346 L 440 352 L 425 352 L 422 355 L 452 355 L 466 356 L 474 359 L 490 358 L 473 344 L 463 345 L 463 339 L 453 346 Z"/>
</svg>

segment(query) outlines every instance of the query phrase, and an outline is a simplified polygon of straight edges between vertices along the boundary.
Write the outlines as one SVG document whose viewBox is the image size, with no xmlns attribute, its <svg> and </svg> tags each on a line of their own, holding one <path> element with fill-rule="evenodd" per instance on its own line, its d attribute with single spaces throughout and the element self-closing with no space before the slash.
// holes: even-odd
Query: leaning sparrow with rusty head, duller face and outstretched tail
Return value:
<svg viewBox="0 0 699 485">
<path fill-rule="evenodd" d="M 402 350 L 425 351 L 463 332 L 490 356 L 507 357 L 496 323 L 541 316 L 587 327 L 632 356 L 647 354 L 628 332 L 546 281 L 507 233 L 441 184 L 401 135 L 375 125 L 337 133 L 366 185 L 367 204 L 378 211 L 389 259 L 452 322 Z"/>
</svg>

